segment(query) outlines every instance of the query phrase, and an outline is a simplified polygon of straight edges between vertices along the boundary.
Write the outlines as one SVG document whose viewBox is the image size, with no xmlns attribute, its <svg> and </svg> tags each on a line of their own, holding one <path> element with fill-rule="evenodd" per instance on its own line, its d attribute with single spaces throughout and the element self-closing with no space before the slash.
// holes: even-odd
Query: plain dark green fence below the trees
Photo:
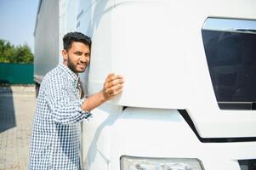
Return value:
<svg viewBox="0 0 256 170">
<path fill-rule="evenodd" d="M 33 84 L 32 64 L 0 63 L 0 83 Z"/>
</svg>

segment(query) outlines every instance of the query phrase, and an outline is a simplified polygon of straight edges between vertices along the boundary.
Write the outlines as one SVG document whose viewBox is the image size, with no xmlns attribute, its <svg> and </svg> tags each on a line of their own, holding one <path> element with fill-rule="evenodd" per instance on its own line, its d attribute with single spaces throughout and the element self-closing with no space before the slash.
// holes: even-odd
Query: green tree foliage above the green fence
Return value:
<svg viewBox="0 0 256 170">
<path fill-rule="evenodd" d="M 27 44 L 14 47 L 10 42 L 0 39 L 0 62 L 33 63 L 34 56 Z"/>
</svg>

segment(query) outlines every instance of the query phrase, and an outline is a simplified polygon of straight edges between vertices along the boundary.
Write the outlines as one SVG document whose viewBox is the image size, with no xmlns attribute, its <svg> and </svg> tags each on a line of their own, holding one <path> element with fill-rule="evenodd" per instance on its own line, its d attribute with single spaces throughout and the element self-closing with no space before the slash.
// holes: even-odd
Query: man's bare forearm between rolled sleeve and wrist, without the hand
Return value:
<svg viewBox="0 0 256 170">
<path fill-rule="evenodd" d="M 103 92 L 100 91 L 97 94 L 94 94 L 94 95 L 88 97 L 88 99 L 86 99 L 82 103 L 82 111 L 92 111 L 92 110 L 94 110 L 94 108 L 103 104 L 106 100 L 107 99 L 105 99 Z"/>
</svg>

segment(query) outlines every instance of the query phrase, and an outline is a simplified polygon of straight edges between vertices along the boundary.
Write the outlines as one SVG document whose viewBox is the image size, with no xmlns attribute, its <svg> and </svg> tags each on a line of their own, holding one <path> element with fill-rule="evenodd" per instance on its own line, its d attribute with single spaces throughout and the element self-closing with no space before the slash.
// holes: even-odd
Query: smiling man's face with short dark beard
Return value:
<svg viewBox="0 0 256 170">
<path fill-rule="evenodd" d="M 90 60 L 90 49 L 82 42 L 72 42 L 71 48 L 62 50 L 64 64 L 76 74 L 85 71 Z"/>
</svg>

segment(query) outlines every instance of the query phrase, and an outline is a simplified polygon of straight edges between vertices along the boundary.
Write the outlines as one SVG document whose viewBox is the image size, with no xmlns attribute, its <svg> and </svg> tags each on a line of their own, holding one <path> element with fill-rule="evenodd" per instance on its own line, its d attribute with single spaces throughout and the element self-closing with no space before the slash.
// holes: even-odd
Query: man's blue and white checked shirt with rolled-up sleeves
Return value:
<svg viewBox="0 0 256 170">
<path fill-rule="evenodd" d="M 43 78 L 37 98 L 28 169 L 80 169 L 82 120 L 81 86 L 77 75 L 63 64 Z"/>
</svg>

